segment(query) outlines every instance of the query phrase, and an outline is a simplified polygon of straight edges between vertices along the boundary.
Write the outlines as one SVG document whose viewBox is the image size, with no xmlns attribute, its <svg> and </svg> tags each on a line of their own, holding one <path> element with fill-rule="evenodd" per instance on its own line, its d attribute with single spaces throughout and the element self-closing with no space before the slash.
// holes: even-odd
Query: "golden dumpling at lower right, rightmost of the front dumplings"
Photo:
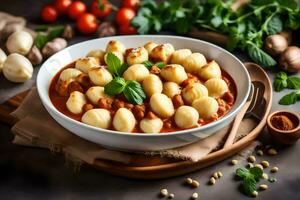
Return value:
<svg viewBox="0 0 300 200">
<path fill-rule="evenodd" d="M 219 105 L 217 100 L 212 97 L 201 97 L 196 99 L 192 106 L 198 111 L 201 118 L 209 119 L 217 114 Z"/>
</svg>

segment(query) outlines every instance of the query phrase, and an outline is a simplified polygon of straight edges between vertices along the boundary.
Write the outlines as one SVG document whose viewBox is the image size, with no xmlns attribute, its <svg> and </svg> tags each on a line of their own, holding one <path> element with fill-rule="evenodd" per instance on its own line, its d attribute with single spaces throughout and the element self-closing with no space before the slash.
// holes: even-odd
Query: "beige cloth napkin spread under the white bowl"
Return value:
<svg viewBox="0 0 300 200">
<path fill-rule="evenodd" d="M 73 161 L 83 161 L 89 164 L 93 164 L 97 159 L 130 164 L 134 158 L 133 153 L 106 149 L 64 129 L 44 109 L 35 88 L 30 91 L 22 105 L 12 115 L 19 119 L 12 128 L 15 134 L 14 144 L 48 148 L 52 152 L 64 153 Z M 240 126 L 239 135 L 249 133 L 255 126 L 254 121 L 244 120 Z M 161 152 L 145 152 L 145 156 L 159 154 L 162 157 L 196 162 L 224 143 L 223 139 L 229 128 L 229 126 L 225 127 L 213 136 L 196 143 Z"/>
</svg>

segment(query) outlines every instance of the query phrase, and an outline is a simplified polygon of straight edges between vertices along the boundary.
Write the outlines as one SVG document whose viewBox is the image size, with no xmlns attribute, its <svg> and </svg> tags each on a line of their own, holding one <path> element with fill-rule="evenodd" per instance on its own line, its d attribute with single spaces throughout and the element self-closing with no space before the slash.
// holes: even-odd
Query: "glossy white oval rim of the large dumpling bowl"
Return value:
<svg viewBox="0 0 300 200">
<path fill-rule="evenodd" d="M 214 121 L 214 122 L 211 122 L 209 124 L 206 124 L 204 126 L 200 126 L 200 127 L 196 127 L 196 128 L 191 128 L 191 129 L 185 129 L 185 130 L 181 130 L 181 131 L 174 131 L 174 132 L 164 132 L 164 133 L 127 133 L 127 132 L 120 132 L 120 131 L 114 131 L 114 130 L 110 130 L 110 129 L 103 129 L 103 128 L 98 128 L 98 127 L 94 127 L 94 126 L 91 126 L 91 125 L 88 125 L 88 124 L 84 124 L 82 122 L 79 122 L 77 120 L 74 120 L 66 115 L 64 115 L 63 113 L 61 113 L 59 110 L 56 109 L 56 107 L 53 105 L 53 103 L 51 102 L 50 98 L 49 98 L 49 87 L 47 88 L 47 97 L 49 98 L 49 102 L 48 103 L 48 99 L 44 99 L 43 95 L 41 95 L 41 90 L 43 90 L 41 88 L 41 86 L 39 86 L 40 84 L 39 83 L 39 79 L 41 77 L 41 69 L 44 67 L 44 65 L 46 65 L 49 60 L 52 59 L 52 57 L 56 56 L 57 54 L 60 53 L 57 52 L 55 53 L 54 55 L 50 56 L 43 64 L 42 66 L 40 67 L 40 70 L 37 74 L 37 81 L 36 81 L 36 86 L 37 86 L 37 90 L 38 90 L 38 94 L 39 94 L 39 97 L 44 105 L 44 107 L 48 107 L 51 111 L 53 111 L 56 115 L 58 115 L 59 117 L 67 120 L 68 122 L 70 123 L 75 123 L 76 125 L 79 125 L 79 126 L 83 126 L 85 128 L 88 128 L 88 129 L 92 129 L 92 130 L 95 130 L 95 131 L 102 131 L 102 132 L 107 132 L 109 134 L 115 134 L 115 135 L 127 135 L 127 136 L 132 136 L 132 137 L 158 137 L 158 136 L 171 136 L 171 135 L 180 135 L 180 134 L 184 134 L 184 133 L 193 133 L 193 132 L 198 132 L 198 131 L 201 131 L 201 130 L 205 130 L 205 129 L 208 129 L 208 128 L 211 128 L 215 125 L 218 125 L 224 121 L 226 121 L 228 118 L 230 118 L 232 115 L 235 115 L 241 108 L 242 106 L 245 104 L 248 96 L 249 96 L 249 93 L 250 93 L 250 88 L 251 88 L 251 79 L 250 79 L 250 75 L 245 67 L 245 65 L 235 56 L 233 55 L 232 53 L 230 53 L 229 51 L 227 51 L 226 49 L 222 48 L 222 47 L 219 47 L 215 44 L 212 44 L 210 42 L 206 42 L 206 41 L 203 41 L 203 40 L 199 40 L 199 39 L 194 39 L 194 38 L 188 38 L 188 37 L 182 37 L 182 36 L 172 36 L 172 35 L 129 35 L 129 36 L 112 36 L 112 37 L 105 37 L 105 39 L 107 40 L 118 40 L 118 38 L 135 38 L 135 37 L 145 37 L 145 38 L 175 38 L 175 39 L 179 39 L 179 40 L 190 40 L 190 41 L 194 41 L 194 42 L 201 42 L 203 44 L 206 44 L 206 45 L 209 45 L 209 46 L 212 46 L 213 48 L 216 48 L 220 51 L 225 51 L 227 54 L 229 54 L 229 56 L 231 56 L 232 59 L 235 59 L 241 66 L 241 70 L 243 70 L 244 74 L 246 75 L 246 78 L 247 78 L 247 84 L 248 84 L 248 87 L 246 88 L 246 95 L 243 97 L 240 105 L 238 105 L 233 111 L 232 113 L 227 113 L 225 114 L 224 116 L 222 116 L 220 119 Z M 63 49 L 62 51 L 67 51 L 68 49 L 71 49 L 71 48 L 76 48 L 76 46 L 79 46 L 81 45 L 82 43 L 85 43 L 85 42 L 91 42 L 91 41 L 96 41 L 96 40 L 101 40 L 102 38 L 97 38 L 97 39 L 91 39 L 91 40 L 86 40 L 86 41 L 83 41 L 83 42 L 79 42 L 79 43 L 76 43 L 76 44 L 73 44 L 71 46 L 68 46 L 67 48 Z M 53 76 L 51 77 L 50 79 L 50 82 L 52 81 L 53 79 Z M 235 83 L 236 84 L 236 83 Z M 47 110 L 47 109 L 46 109 Z M 47 110 L 47 112 L 49 113 L 49 111 Z M 49 113 L 50 114 L 50 113 Z M 51 115 L 51 114 L 50 114 Z M 51 116 L 52 117 L 52 116 Z M 52 117 L 53 118 L 53 117 Z"/>
</svg>

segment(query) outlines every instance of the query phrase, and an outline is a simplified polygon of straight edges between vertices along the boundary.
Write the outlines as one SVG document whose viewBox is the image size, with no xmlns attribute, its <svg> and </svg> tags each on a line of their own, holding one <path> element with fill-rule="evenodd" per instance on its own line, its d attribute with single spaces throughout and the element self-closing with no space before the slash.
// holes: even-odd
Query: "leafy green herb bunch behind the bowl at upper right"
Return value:
<svg viewBox="0 0 300 200">
<path fill-rule="evenodd" d="M 171 30 L 187 33 L 192 27 L 228 35 L 229 50 L 241 49 L 264 67 L 276 61 L 262 50 L 266 36 L 284 28 L 300 27 L 300 9 L 295 0 L 252 0 L 236 12 L 234 0 L 144 0 L 132 25 L 140 34 Z"/>
</svg>

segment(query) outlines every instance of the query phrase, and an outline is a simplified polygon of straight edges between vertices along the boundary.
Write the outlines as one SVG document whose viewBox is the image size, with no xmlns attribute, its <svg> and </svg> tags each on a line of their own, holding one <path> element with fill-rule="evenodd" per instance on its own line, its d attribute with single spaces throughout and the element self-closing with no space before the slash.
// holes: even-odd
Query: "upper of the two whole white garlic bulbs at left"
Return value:
<svg viewBox="0 0 300 200">
<path fill-rule="evenodd" d="M 11 34 L 6 42 L 7 50 L 10 53 L 26 55 L 33 45 L 32 36 L 26 31 L 17 31 Z"/>
</svg>

